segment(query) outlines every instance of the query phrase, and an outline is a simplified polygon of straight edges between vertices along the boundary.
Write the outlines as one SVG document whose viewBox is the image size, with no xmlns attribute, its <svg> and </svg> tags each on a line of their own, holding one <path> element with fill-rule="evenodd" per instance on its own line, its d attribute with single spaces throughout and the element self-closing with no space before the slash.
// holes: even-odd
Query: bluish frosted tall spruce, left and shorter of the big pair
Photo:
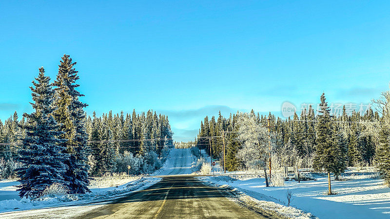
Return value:
<svg viewBox="0 0 390 219">
<path fill-rule="evenodd" d="M 59 125 L 53 118 L 54 111 L 50 77 L 44 75 L 43 67 L 33 81 L 31 103 L 35 112 L 24 113 L 26 137 L 19 149 L 18 161 L 22 164 L 16 170 L 20 177 L 18 186 L 20 197 L 36 198 L 53 183 L 64 183 L 66 155 L 59 139 Z"/>
</svg>

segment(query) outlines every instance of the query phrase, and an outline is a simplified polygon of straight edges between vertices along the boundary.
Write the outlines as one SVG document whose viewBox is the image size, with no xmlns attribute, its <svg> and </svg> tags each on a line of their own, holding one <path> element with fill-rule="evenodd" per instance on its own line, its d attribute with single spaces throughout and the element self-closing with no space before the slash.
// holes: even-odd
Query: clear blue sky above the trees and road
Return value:
<svg viewBox="0 0 390 219">
<path fill-rule="evenodd" d="M 390 80 L 389 1 L 0 1 L 0 118 L 38 68 L 78 62 L 86 111 L 153 109 L 176 140 L 206 115 L 369 103 Z"/>
</svg>

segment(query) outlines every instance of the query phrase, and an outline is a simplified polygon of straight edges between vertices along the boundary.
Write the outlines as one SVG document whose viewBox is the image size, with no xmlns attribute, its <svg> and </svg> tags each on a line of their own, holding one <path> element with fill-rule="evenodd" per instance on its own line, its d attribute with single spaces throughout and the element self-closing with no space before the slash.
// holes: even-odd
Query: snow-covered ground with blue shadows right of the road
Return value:
<svg viewBox="0 0 390 219">
<path fill-rule="evenodd" d="M 375 176 L 371 172 L 351 168 L 343 176 L 343 181 L 332 180 L 332 190 L 337 195 L 328 196 L 328 179 L 325 174 L 312 174 L 316 181 L 287 181 L 284 186 L 265 187 L 264 178 L 252 178 L 251 176 L 201 177 L 203 181 L 219 185 L 229 185 L 237 188 L 260 201 L 273 201 L 286 205 L 287 191 L 292 192 L 291 206 L 310 212 L 320 219 L 334 218 L 390 218 L 390 188 L 383 185 L 383 180 L 370 178 Z M 237 180 L 239 179 L 239 180 Z M 261 205 L 272 203 L 263 202 Z M 282 209 L 284 211 L 288 209 Z M 287 212 L 288 213 L 288 212 Z M 310 216 L 310 215 L 309 215 Z M 310 217 L 309 217 L 310 218 Z"/>
</svg>

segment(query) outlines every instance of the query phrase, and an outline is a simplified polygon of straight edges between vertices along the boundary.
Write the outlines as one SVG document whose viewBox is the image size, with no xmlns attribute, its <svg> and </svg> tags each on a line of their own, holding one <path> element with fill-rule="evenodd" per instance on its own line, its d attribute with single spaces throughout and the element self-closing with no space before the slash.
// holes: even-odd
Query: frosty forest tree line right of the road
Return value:
<svg viewBox="0 0 390 219">
<path fill-rule="evenodd" d="M 386 104 L 389 100 L 384 99 L 381 106 L 388 106 Z M 221 159 L 224 138 L 226 169 L 235 171 L 250 168 L 254 164 L 253 159 L 252 162 L 248 159 L 251 153 L 257 154 L 256 156 L 261 155 L 259 151 L 251 151 L 245 147 L 246 141 L 242 138 L 242 130 L 245 128 L 240 126 L 258 125 L 260 129 L 256 130 L 258 132 L 256 138 L 261 136 L 259 133 L 262 133 L 261 137 L 264 138 L 265 144 L 265 151 L 262 153 L 264 156 L 269 156 L 266 154 L 271 152 L 272 168 L 295 165 L 300 168 L 325 168 L 324 161 L 328 161 L 328 164 L 335 162 L 330 172 L 337 178 L 346 166 L 381 167 L 389 163 L 390 159 L 384 161 L 384 157 L 389 157 L 386 152 L 390 151 L 388 135 L 386 135 L 388 129 L 383 130 L 389 127 L 389 122 L 386 122 L 386 115 L 388 115 L 386 112 L 379 116 L 377 111 L 374 112 L 369 108 L 363 115 L 356 111 L 348 115 L 344 106 L 340 115 L 331 115 L 325 94 L 321 95 L 320 101 L 317 115 L 312 106 L 309 106 L 308 109 L 302 110 L 300 116 L 295 112 L 292 119 L 281 119 L 271 113 L 268 116 L 255 114 L 254 110 L 246 113 L 245 116 L 237 111 L 229 118 L 224 118 L 219 112 L 216 121 L 214 116 L 211 119 L 206 116 L 200 123 L 196 144 L 206 149 L 213 157 Z M 254 123 L 244 121 L 244 117 L 249 117 L 248 121 L 253 120 Z M 271 151 L 268 146 L 268 135 L 271 137 Z M 244 139 L 248 140 L 248 138 Z M 257 148 L 259 144 L 254 143 Z M 247 153 L 240 153 L 242 151 Z M 330 157 L 319 156 L 324 154 Z M 266 165 L 264 161 L 262 163 L 263 166 Z M 386 168 L 381 167 L 384 169 L 381 170 L 383 176 L 388 176 L 390 173 L 389 168 Z"/>
</svg>

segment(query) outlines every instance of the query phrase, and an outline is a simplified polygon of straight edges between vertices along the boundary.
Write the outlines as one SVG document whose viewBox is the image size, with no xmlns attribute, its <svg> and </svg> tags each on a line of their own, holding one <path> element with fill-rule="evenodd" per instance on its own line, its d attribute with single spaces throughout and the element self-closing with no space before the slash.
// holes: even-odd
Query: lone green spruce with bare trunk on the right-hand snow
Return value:
<svg viewBox="0 0 390 219">
<path fill-rule="evenodd" d="M 338 133 L 331 127 L 331 116 L 328 103 L 326 102 L 325 93 L 321 95 L 321 103 L 318 110 L 318 123 L 316 127 L 315 155 L 313 167 L 317 171 L 325 170 L 328 173 L 328 194 L 331 191 L 331 173 L 339 174 L 345 169 L 345 150 L 344 145 L 340 144 L 341 140 L 337 137 Z M 344 153 L 343 153 L 344 152 Z"/>
</svg>

